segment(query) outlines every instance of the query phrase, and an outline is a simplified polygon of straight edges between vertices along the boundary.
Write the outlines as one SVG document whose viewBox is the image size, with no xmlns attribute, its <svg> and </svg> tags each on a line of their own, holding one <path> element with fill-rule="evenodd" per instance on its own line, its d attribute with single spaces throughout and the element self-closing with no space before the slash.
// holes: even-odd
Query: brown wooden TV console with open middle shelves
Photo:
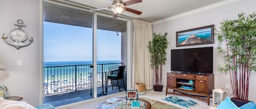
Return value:
<svg viewBox="0 0 256 109">
<path fill-rule="evenodd" d="M 166 85 L 166 95 L 170 94 L 178 94 L 178 95 L 187 95 L 189 97 L 205 101 L 210 105 L 210 95 L 212 94 L 212 90 L 214 88 L 214 75 L 206 74 L 206 75 L 198 75 L 198 74 L 189 74 L 189 73 L 173 73 L 169 72 L 166 74 L 167 77 L 167 85 Z M 178 82 L 181 80 L 193 80 L 194 84 L 187 84 Z M 181 85 L 190 85 L 195 88 L 192 90 L 182 89 Z M 173 92 L 168 92 L 168 89 L 173 89 Z M 178 93 L 176 93 L 178 92 Z M 207 97 L 207 99 L 203 99 L 200 97 Z"/>
</svg>

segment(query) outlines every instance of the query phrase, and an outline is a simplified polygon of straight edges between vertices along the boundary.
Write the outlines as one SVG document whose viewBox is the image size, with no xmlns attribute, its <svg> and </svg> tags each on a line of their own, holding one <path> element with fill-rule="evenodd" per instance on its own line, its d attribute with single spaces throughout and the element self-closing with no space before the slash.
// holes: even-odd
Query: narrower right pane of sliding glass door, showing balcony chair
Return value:
<svg viewBox="0 0 256 109">
<path fill-rule="evenodd" d="M 126 23 L 97 15 L 98 97 L 126 90 Z"/>
</svg>

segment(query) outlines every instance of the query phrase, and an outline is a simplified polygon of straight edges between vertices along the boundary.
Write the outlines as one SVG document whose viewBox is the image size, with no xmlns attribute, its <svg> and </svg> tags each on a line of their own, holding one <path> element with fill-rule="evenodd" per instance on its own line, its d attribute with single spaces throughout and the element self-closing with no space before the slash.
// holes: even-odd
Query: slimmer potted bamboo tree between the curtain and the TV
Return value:
<svg viewBox="0 0 256 109">
<path fill-rule="evenodd" d="M 154 91 L 163 90 L 162 74 L 163 65 L 166 62 L 166 48 L 168 47 L 168 41 L 166 39 L 167 33 L 164 35 L 153 33 L 153 40 L 149 42 L 148 49 L 150 52 L 151 67 L 155 74 Z M 160 69 L 159 69 L 160 67 Z"/>
</svg>

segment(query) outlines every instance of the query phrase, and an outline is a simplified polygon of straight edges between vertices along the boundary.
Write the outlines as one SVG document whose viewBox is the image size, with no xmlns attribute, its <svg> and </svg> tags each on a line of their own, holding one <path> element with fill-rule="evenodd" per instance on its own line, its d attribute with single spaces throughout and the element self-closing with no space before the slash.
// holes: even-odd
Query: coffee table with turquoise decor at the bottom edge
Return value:
<svg viewBox="0 0 256 109">
<path fill-rule="evenodd" d="M 101 102 L 98 106 L 97 109 L 128 109 L 130 108 L 130 103 L 133 100 L 126 100 L 126 98 L 120 98 L 120 101 L 117 102 L 116 104 L 107 104 L 105 101 Z M 136 101 L 140 101 L 140 108 L 141 109 L 150 109 L 151 104 L 150 102 L 139 99 Z"/>
</svg>

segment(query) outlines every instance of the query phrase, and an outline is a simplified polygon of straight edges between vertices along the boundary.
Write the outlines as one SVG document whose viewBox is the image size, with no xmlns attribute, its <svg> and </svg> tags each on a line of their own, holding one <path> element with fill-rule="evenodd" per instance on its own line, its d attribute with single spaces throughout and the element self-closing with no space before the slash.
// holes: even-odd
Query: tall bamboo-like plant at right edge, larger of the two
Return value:
<svg viewBox="0 0 256 109">
<path fill-rule="evenodd" d="M 225 49 L 217 48 L 225 60 L 218 69 L 230 74 L 233 96 L 241 100 L 248 100 L 249 78 L 256 71 L 255 16 L 241 13 L 236 20 L 224 20 L 217 35 L 219 42 L 225 42 Z"/>
</svg>

